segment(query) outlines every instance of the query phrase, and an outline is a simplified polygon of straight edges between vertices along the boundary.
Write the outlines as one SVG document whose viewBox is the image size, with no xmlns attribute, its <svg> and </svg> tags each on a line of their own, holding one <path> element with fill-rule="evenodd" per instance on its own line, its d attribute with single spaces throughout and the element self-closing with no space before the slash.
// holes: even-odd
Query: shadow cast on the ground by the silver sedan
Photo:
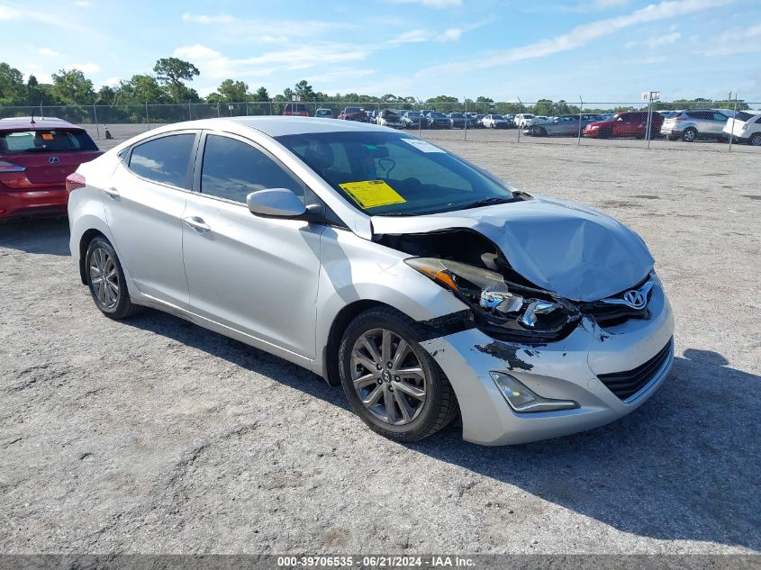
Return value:
<svg viewBox="0 0 761 570">
<path fill-rule="evenodd" d="M 348 407 L 322 378 L 189 322 L 146 312 L 129 323 Z M 597 430 L 483 448 L 452 426 L 409 447 L 624 532 L 759 549 L 761 377 L 727 364 L 716 352 L 684 351 L 658 394 Z"/>
</svg>

